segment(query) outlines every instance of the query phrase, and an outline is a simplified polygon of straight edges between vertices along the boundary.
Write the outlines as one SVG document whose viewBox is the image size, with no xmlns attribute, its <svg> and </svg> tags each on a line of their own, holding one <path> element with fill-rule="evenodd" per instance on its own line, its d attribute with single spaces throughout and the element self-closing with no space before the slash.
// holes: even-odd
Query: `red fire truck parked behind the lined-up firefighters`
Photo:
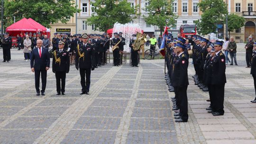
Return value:
<svg viewBox="0 0 256 144">
<path fill-rule="evenodd" d="M 196 35 L 196 25 L 182 25 L 180 27 L 180 36 L 190 38 L 193 35 Z"/>
</svg>

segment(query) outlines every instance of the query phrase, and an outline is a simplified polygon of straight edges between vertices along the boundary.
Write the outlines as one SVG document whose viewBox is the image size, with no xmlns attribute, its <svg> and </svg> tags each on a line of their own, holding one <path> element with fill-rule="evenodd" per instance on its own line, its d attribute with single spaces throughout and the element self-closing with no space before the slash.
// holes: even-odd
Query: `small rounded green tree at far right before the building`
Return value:
<svg viewBox="0 0 256 144">
<path fill-rule="evenodd" d="M 240 27 L 243 27 L 245 24 L 245 18 L 238 16 L 234 13 L 230 14 L 228 16 L 228 31 L 229 31 L 229 36 L 230 32 L 233 31 L 234 29 L 238 29 Z"/>
</svg>

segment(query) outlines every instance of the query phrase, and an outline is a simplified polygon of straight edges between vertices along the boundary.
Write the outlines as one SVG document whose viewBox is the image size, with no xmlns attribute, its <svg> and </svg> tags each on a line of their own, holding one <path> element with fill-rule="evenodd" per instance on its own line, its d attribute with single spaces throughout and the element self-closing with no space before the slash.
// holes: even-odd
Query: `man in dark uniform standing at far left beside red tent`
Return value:
<svg viewBox="0 0 256 144">
<path fill-rule="evenodd" d="M 8 34 L 4 34 L 4 38 L 3 38 L 3 43 L 2 43 L 2 47 L 3 47 L 3 62 L 9 63 L 10 61 L 10 48 L 11 48 L 11 38 L 8 37 Z"/>
</svg>

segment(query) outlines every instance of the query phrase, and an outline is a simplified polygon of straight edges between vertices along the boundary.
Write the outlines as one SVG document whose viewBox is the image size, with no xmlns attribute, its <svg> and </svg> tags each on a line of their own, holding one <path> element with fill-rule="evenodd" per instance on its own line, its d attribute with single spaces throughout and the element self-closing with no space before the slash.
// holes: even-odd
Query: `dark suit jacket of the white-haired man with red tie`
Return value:
<svg viewBox="0 0 256 144">
<path fill-rule="evenodd" d="M 50 55 L 47 48 L 42 47 L 41 58 L 37 47 L 32 50 L 30 67 L 35 70 L 45 70 L 46 67 L 50 67 Z"/>
</svg>

